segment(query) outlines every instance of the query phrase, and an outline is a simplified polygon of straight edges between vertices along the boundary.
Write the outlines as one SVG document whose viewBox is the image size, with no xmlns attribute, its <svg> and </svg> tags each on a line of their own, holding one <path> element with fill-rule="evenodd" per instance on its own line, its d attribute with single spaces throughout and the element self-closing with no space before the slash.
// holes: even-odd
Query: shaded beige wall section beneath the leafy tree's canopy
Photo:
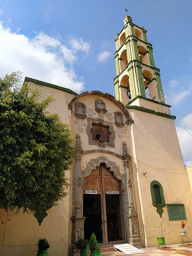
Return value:
<svg viewBox="0 0 192 256">
<path fill-rule="evenodd" d="M 50 243 L 50 256 L 67 255 L 68 201 L 69 197 L 66 197 L 48 210 L 41 226 L 31 212 L 13 215 L 0 209 L 1 255 L 36 255 L 39 238 L 46 238 Z"/>
</svg>

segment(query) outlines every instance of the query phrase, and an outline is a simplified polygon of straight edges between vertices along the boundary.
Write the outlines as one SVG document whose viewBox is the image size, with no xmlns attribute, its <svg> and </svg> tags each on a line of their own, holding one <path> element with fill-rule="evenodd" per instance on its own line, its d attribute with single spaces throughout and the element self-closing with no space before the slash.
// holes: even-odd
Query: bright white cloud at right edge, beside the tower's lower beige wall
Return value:
<svg viewBox="0 0 192 256">
<path fill-rule="evenodd" d="M 185 116 L 180 123 L 190 134 L 192 134 L 192 113 Z M 181 126 L 176 126 L 179 144 L 181 146 L 182 155 L 187 166 L 192 166 L 192 136 Z"/>
</svg>

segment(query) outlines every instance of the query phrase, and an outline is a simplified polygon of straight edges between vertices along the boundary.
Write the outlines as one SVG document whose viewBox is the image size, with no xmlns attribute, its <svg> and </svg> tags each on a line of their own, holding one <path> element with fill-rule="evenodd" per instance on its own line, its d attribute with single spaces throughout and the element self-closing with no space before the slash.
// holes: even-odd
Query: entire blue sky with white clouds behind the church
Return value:
<svg viewBox="0 0 192 256">
<path fill-rule="evenodd" d="M 114 39 L 125 8 L 148 31 L 184 162 L 192 166 L 191 0 L 0 0 L 0 77 L 22 71 L 23 79 L 115 96 Z"/>
</svg>

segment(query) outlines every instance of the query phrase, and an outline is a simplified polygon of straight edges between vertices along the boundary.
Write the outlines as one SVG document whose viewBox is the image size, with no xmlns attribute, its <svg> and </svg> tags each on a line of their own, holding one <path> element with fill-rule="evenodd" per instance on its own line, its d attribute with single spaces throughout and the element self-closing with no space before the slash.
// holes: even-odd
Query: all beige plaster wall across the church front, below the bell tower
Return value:
<svg viewBox="0 0 192 256">
<path fill-rule="evenodd" d="M 35 86 L 32 84 L 32 86 Z M 73 136 L 81 136 L 82 149 L 84 151 L 101 149 L 99 146 L 88 144 L 86 133 L 87 118 L 83 119 L 82 131 L 78 129 L 77 118 L 74 111 L 67 109 L 69 102 L 75 97 L 69 93 L 43 86 L 44 96 L 53 94 L 56 96 L 49 107 L 50 112 L 59 113 L 61 120 L 71 125 Z M 106 103 L 107 113 L 112 113 L 113 120 L 104 114 L 104 120 L 113 123 L 116 134 L 115 148 L 106 147 L 104 153 L 90 153 L 82 156 L 82 170 L 87 166 L 91 159 L 104 155 L 110 161 L 116 162 L 120 172 L 124 172 L 122 160 L 113 154 L 122 155 L 122 143 L 125 141 L 131 155 L 131 173 L 134 191 L 134 204 L 138 214 L 139 231 L 143 246 L 158 245 L 156 237 L 160 235 L 158 223 L 158 213 L 152 205 L 150 183 L 157 180 L 161 183 L 164 191 L 165 203 L 183 203 L 187 215 L 186 227 L 191 226 L 190 213 L 192 212 L 192 196 L 187 171 L 184 168 L 179 141 L 176 134 L 174 121 L 161 116 L 156 116 L 138 110 L 129 110 L 134 120 L 132 125 L 124 125 L 122 128 L 114 124 L 114 112 L 120 111 L 119 107 L 113 102 L 100 95 L 87 95 L 78 98 L 75 102 L 83 102 L 86 109 L 93 109 L 92 118 L 98 118 L 95 111 L 95 100 L 101 98 Z M 75 102 L 73 109 L 75 110 Z M 146 101 L 144 102 L 146 104 Z M 142 99 L 138 99 L 138 105 L 144 104 Z M 155 111 L 166 113 L 161 106 L 147 101 L 147 106 Z M 146 105 L 145 105 L 146 107 Z M 88 117 L 88 113 L 86 113 Z M 126 117 L 123 117 L 124 123 Z M 83 125 L 85 124 L 85 125 Z M 107 152 L 107 151 L 110 151 Z M 146 173 L 143 175 L 143 173 Z M 67 177 L 70 178 L 70 188 L 67 189 L 69 195 L 63 202 L 58 202 L 58 206 L 52 207 L 48 216 L 44 218 L 41 226 L 37 219 L 30 212 L 20 213 L 13 216 L 0 209 L 0 245 L 2 255 L 35 255 L 38 239 L 47 238 L 51 244 L 49 255 L 67 255 L 67 245 L 71 243 L 72 222 L 72 170 L 68 171 Z M 190 181 L 192 180 L 191 170 L 188 170 Z M 167 206 L 164 208 L 165 215 L 164 234 L 166 244 L 180 243 L 178 228 L 180 221 L 169 221 Z M 10 220 L 7 220 L 7 218 Z M 189 237 L 192 231 L 188 229 Z M 24 246 L 23 246 L 24 245 Z M 14 246 L 14 247 L 13 247 Z"/>
</svg>

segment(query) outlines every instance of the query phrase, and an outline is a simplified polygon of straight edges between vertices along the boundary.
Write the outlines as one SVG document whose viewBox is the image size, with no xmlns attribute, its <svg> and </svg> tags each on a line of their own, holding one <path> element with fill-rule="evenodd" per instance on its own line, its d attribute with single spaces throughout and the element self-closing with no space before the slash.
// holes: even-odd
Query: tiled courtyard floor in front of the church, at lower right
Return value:
<svg viewBox="0 0 192 256">
<path fill-rule="evenodd" d="M 145 253 L 131 254 L 132 256 L 192 256 L 192 243 L 190 245 L 185 244 L 176 244 L 176 245 L 166 245 L 166 247 L 151 247 L 151 248 L 143 248 L 141 249 Z M 114 251 L 114 252 L 105 252 L 102 253 L 102 256 L 127 256 L 127 254 Z"/>
</svg>

